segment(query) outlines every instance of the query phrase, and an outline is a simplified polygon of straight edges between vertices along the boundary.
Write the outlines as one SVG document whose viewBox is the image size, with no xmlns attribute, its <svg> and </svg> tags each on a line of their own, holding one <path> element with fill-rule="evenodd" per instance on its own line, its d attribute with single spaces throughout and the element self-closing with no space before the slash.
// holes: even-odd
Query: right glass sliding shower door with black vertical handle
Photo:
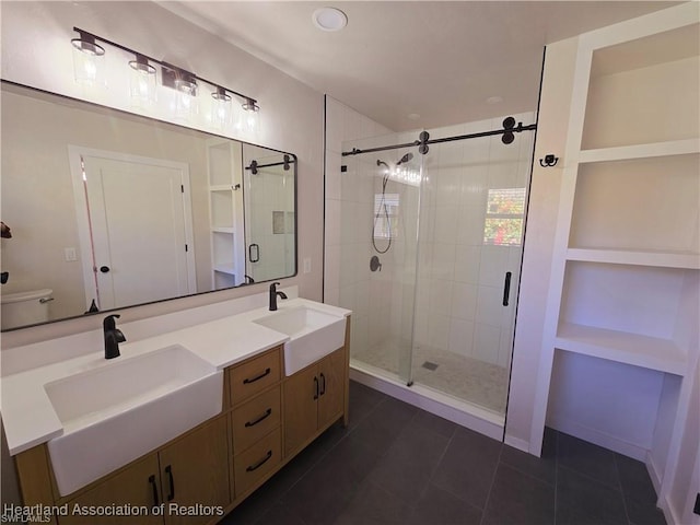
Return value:
<svg viewBox="0 0 700 525">
<path fill-rule="evenodd" d="M 509 144 L 499 135 L 432 144 L 423 158 L 412 378 L 498 415 L 508 398 L 532 147 L 532 132 Z"/>
</svg>

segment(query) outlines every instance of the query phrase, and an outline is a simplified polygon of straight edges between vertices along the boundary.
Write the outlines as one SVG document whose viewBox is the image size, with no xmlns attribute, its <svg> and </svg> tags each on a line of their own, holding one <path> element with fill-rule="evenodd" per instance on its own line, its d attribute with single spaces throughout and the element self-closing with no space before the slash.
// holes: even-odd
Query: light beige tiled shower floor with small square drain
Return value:
<svg viewBox="0 0 700 525">
<path fill-rule="evenodd" d="M 355 352 L 352 358 L 398 375 L 399 350 L 398 341 L 388 341 Z M 425 362 L 438 366 L 430 370 L 423 366 Z M 504 366 L 438 348 L 418 347 L 412 355 L 412 377 L 413 384 L 427 386 L 501 415 L 505 412 L 509 371 Z"/>
</svg>

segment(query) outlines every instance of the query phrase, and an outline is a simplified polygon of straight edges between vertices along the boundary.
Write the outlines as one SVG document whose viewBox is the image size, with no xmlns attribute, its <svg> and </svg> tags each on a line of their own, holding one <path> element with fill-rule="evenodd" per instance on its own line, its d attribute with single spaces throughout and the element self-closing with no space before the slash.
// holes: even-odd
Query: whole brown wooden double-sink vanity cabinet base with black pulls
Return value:
<svg viewBox="0 0 700 525">
<path fill-rule="evenodd" d="M 58 493 L 46 444 L 20 453 L 24 505 L 67 505 L 67 515 L 49 522 L 58 525 L 218 523 L 222 514 L 187 509 L 230 512 L 335 421 L 343 417 L 347 424 L 349 334 L 350 318 L 342 348 L 289 377 L 282 346 L 229 366 L 221 415 L 67 497 Z M 85 512 L 164 505 L 164 512 L 80 515 L 75 505 Z"/>
</svg>

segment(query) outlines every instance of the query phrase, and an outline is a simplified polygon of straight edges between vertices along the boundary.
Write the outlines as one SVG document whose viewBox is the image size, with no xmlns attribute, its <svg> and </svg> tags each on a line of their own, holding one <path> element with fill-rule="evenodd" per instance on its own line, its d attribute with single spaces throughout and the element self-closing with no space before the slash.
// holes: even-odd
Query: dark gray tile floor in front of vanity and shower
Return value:
<svg viewBox="0 0 700 525">
<path fill-rule="evenodd" d="M 547 429 L 525 454 L 359 383 L 328 429 L 224 525 L 656 525 L 646 468 Z"/>
</svg>

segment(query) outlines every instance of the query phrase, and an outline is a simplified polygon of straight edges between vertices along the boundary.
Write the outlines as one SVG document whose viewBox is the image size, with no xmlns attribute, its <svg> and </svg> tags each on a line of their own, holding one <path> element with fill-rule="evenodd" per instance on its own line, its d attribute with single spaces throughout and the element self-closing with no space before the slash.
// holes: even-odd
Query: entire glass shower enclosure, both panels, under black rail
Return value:
<svg viewBox="0 0 700 525">
<path fill-rule="evenodd" d="M 342 158 L 339 214 L 352 365 L 499 418 L 533 149 L 529 130 L 505 142 L 480 137 L 502 121 L 432 130 L 430 140 L 446 140 L 423 153 L 380 148 L 413 143 L 418 131 L 345 143 L 357 154 Z M 464 138 L 471 135 L 479 137 Z"/>
</svg>

